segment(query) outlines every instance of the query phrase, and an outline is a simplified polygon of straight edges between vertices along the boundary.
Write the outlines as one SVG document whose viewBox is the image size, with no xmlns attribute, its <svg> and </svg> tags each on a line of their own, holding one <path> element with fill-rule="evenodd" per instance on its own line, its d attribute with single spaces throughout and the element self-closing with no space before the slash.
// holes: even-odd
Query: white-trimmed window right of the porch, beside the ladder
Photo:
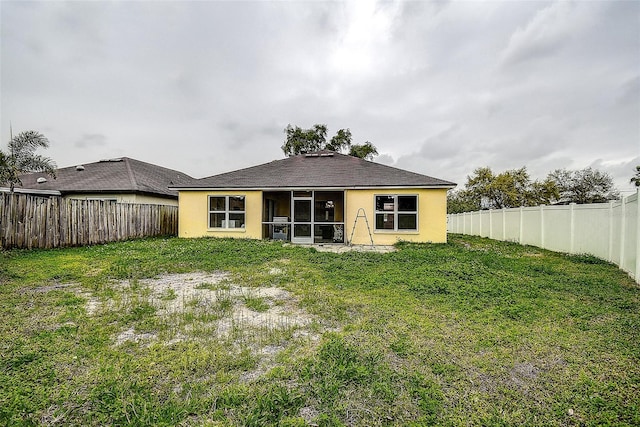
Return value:
<svg viewBox="0 0 640 427">
<path fill-rule="evenodd" d="M 416 231 L 418 229 L 418 196 L 385 194 L 375 196 L 376 230 Z"/>
</svg>

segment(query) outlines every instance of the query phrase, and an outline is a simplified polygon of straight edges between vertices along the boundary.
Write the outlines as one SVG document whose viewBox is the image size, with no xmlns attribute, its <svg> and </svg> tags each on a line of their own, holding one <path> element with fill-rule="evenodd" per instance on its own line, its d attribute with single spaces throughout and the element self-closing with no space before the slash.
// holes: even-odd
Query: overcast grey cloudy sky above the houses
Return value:
<svg viewBox="0 0 640 427">
<path fill-rule="evenodd" d="M 132 157 L 196 178 L 283 158 L 287 124 L 350 128 L 375 161 L 640 164 L 640 2 L 0 1 L 2 147 L 59 167 Z"/>
</svg>

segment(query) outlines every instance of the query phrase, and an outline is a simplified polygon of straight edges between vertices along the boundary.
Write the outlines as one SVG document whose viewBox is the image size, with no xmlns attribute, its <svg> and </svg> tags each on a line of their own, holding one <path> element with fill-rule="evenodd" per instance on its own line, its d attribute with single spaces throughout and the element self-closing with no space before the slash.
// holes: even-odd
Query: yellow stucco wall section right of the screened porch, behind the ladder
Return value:
<svg viewBox="0 0 640 427">
<path fill-rule="evenodd" d="M 376 231 L 375 196 L 393 194 L 415 194 L 418 196 L 417 231 Z M 345 238 L 351 236 L 354 221 L 359 208 L 364 208 L 371 228 L 373 243 L 392 245 L 398 241 L 444 243 L 447 241 L 447 190 L 446 189 L 408 189 L 408 190 L 347 190 L 345 196 Z M 369 233 L 363 218 L 358 219 L 352 243 L 368 245 Z"/>
</svg>

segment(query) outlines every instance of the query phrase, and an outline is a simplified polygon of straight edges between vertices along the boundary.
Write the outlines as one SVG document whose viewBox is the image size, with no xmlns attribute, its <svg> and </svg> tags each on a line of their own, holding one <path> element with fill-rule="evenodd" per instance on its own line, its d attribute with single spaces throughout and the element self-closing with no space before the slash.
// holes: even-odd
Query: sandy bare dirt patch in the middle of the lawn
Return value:
<svg viewBox="0 0 640 427">
<path fill-rule="evenodd" d="M 269 273 L 281 274 L 283 269 L 272 268 Z M 241 286 L 232 283 L 226 272 L 168 274 L 117 282 L 113 288 L 115 298 L 83 293 L 87 314 L 144 307 L 149 312 L 145 325 L 158 325 L 157 330 L 127 325 L 115 335 L 115 346 L 222 340 L 248 348 L 258 358 L 256 369 L 243 374 L 243 381 L 253 381 L 275 366 L 277 355 L 292 342 L 316 342 L 325 329 L 285 289 Z"/>
</svg>

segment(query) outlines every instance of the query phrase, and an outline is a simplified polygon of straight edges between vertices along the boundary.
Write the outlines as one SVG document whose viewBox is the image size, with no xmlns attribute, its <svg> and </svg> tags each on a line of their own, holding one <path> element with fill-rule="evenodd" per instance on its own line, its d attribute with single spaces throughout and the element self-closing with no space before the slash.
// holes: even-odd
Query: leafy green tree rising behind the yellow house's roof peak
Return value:
<svg viewBox="0 0 640 427">
<path fill-rule="evenodd" d="M 327 142 L 327 125 L 316 124 L 310 129 L 302 129 L 290 124 L 284 129 L 286 135 L 282 145 L 285 155 L 297 155 L 318 150 L 330 150 L 337 153 L 347 152 L 350 156 L 372 160 L 378 154 L 376 147 L 369 141 L 364 144 L 353 144 L 349 129 L 340 129 Z"/>
</svg>

